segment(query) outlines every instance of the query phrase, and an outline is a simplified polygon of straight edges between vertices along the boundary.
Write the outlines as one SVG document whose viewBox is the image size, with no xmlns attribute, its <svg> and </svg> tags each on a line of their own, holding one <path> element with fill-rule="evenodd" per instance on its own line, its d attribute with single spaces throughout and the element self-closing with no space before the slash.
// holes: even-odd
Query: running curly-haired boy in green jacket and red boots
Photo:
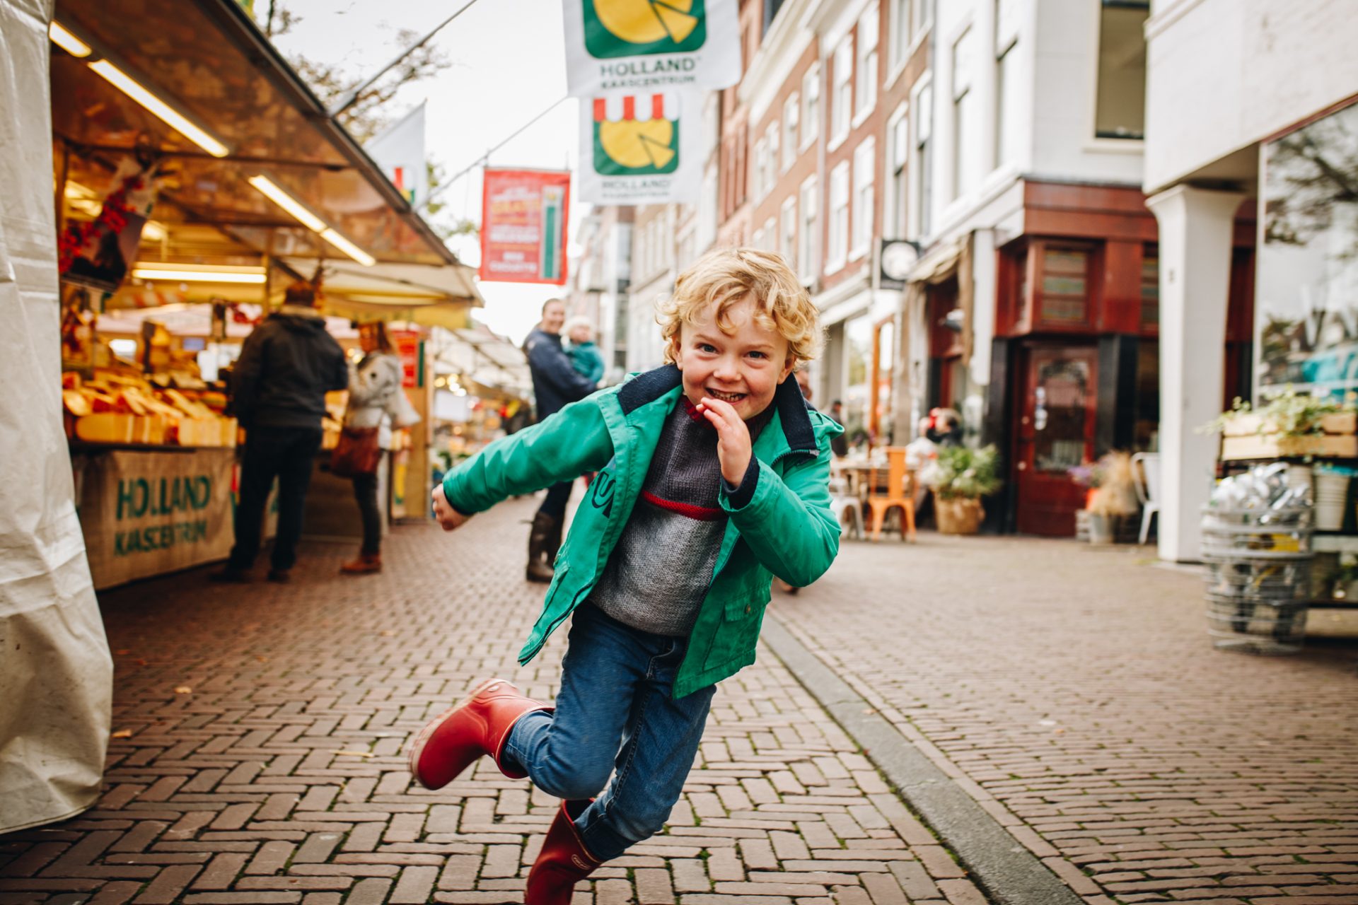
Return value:
<svg viewBox="0 0 1358 905">
<path fill-rule="evenodd" d="M 661 829 L 716 682 L 755 659 L 773 575 L 809 585 L 839 550 L 827 483 L 841 429 L 788 380 L 820 334 L 782 258 L 706 255 L 660 323 L 671 364 L 496 441 L 433 493 L 452 531 L 505 497 L 599 471 L 519 654 L 528 662 L 574 613 L 555 708 L 490 680 L 410 749 L 425 788 L 489 754 L 564 799 L 527 905 L 568 905 L 576 881 Z"/>
</svg>

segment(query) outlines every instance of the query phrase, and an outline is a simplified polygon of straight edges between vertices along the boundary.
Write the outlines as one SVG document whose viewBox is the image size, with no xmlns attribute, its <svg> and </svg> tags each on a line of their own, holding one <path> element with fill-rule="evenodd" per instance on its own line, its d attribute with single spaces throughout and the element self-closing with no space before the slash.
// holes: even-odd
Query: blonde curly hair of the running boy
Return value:
<svg viewBox="0 0 1358 905">
<path fill-rule="evenodd" d="M 820 351 L 822 331 L 816 307 L 782 255 L 758 248 L 721 248 L 699 258 L 679 274 L 675 290 L 661 301 L 656 320 L 665 343 L 665 362 L 675 361 L 675 338 L 684 323 L 714 308 L 713 322 L 735 332 L 728 311 L 746 297 L 754 299 L 754 319 L 788 341 L 788 354 L 809 361 Z"/>
</svg>

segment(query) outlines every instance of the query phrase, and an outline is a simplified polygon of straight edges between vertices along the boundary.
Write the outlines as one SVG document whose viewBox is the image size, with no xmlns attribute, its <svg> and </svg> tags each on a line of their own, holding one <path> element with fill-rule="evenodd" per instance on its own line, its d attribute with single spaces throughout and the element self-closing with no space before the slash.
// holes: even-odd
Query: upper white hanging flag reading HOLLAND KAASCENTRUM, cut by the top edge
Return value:
<svg viewBox="0 0 1358 905">
<path fill-rule="evenodd" d="M 737 0 L 562 0 L 566 87 L 729 88 L 740 81 Z"/>
</svg>

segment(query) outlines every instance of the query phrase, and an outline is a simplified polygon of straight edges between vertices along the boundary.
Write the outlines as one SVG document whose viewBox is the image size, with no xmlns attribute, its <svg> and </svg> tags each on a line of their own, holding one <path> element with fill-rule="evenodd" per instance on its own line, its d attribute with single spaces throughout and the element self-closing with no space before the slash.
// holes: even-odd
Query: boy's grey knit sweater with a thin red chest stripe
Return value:
<svg viewBox="0 0 1358 905">
<path fill-rule="evenodd" d="M 771 414 L 769 407 L 746 422 L 751 440 Z M 732 499 L 748 497 L 752 487 L 747 484 L 756 479 L 751 472 L 756 469 L 751 468 L 739 487 L 722 480 L 717 431 L 680 396 L 589 602 L 640 631 L 687 635 L 712 583 L 727 529 L 727 513 L 718 503 L 722 484 Z"/>
</svg>

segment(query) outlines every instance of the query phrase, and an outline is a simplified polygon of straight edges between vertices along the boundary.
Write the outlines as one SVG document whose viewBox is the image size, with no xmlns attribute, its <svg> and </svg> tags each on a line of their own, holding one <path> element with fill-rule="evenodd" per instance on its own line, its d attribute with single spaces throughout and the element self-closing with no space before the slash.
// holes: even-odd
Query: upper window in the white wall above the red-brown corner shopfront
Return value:
<svg viewBox="0 0 1358 905">
<path fill-rule="evenodd" d="M 1146 136 L 1146 16 L 1150 0 L 1103 0 L 1095 134 Z"/>
</svg>

